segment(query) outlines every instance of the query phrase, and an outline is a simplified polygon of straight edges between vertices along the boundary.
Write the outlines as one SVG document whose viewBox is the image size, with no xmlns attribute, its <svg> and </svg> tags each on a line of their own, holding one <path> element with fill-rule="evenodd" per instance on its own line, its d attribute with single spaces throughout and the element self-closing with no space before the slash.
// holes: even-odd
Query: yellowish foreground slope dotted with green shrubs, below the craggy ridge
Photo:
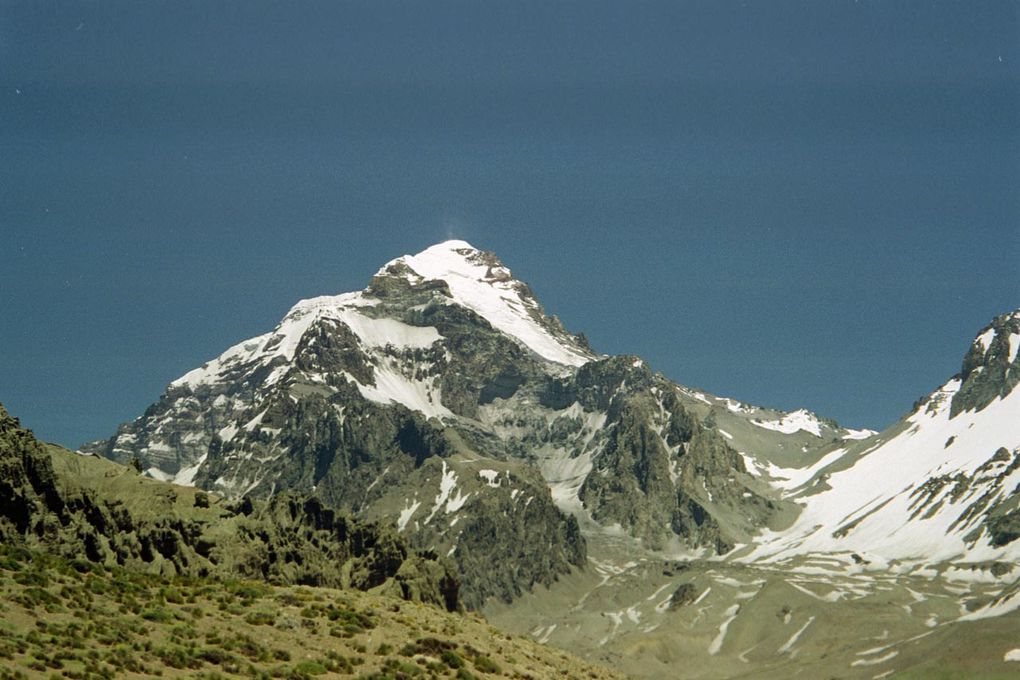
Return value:
<svg viewBox="0 0 1020 680">
<path fill-rule="evenodd" d="M 474 616 L 354 590 L 0 548 L 0 678 L 615 678 Z"/>
</svg>

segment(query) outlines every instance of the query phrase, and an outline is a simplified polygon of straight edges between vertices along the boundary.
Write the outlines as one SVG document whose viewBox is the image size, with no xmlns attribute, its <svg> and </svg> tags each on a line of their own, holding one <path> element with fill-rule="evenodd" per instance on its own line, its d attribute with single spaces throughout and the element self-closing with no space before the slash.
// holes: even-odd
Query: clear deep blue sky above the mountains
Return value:
<svg viewBox="0 0 1020 680">
<path fill-rule="evenodd" d="M 1018 7 L 0 0 L 0 402 L 108 436 L 456 237 L 600 352 L 887 425 L 1020 306 Z"/>
</svg>

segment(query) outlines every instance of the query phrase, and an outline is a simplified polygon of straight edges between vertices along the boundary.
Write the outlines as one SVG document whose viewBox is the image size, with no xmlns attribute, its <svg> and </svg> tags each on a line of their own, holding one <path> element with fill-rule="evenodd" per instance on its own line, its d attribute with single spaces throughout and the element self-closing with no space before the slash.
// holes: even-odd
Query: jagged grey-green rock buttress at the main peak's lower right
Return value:
<svg viewBox="0 0 1020 680">
<path fill-rule="evenodd" d="M 736 478 L 747 477 L 736 452 L 641 360 L 592 362 L 575 384 L 554 391 L 606 410 L 605 444 L 579 492 L 600 523 L 618 523 L 652 547 L 678 537 L 726 553 L 775 511 L 772 501 Z"/>
</svg>

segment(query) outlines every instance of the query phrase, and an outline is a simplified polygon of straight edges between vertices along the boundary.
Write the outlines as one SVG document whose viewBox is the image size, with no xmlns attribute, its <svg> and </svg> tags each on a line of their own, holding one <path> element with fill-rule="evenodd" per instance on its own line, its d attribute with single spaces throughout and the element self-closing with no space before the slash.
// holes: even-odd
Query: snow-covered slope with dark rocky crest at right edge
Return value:
<svg viewBox="0 0 1020 680">
<path fill-rule="evenodd" d="M 1020 311 L 997 317 L 912 414 L 813 470 L 793 494 L 804 505 L 795 526 L 760 538 L 751 559 L 1020 561 L 1018 348 Z"/>
</svg>

